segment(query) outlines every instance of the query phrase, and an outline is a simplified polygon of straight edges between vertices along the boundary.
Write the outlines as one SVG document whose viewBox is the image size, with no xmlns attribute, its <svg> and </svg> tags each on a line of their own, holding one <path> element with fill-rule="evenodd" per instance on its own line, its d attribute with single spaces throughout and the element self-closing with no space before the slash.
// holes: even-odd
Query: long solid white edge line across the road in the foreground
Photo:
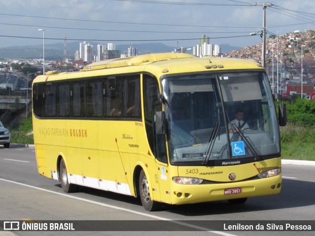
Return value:
<svg viewBox="0 0 315 236">
<path fill-rule="evenodd" d="M 54 191 L 47 190 L 47 189 L 44 189 L 44 188 L 39 188 L 39 187 L 35 187 L 35 186 L 32 186 L 32 185 L 19 183 L 19 182 L 15 182 L 15 181 L 4 179 L 4 178 L 0 178 L 0 180 L 5 181 L 5 182 L 9 182 L 9 183 L 22 185 L 22 186 L 33 188 L 33 189 L 37 189 L 37 190 L 41 190 L 41 191 L 48 192 L 48 193 L 57 194 L 57 195 L 60 195 L 60 196 L 63 196 L 63 197 L 68 197 L 68 198 L 80 200 L 80 201 L 83 201 L 83 202 L 100 205 L 102 207 L 109 207 L 109 208 L 113 208 L 113 209 L 123 210 L 123 211 L 127 211 L 127 212 L 138 214 L 138 215 L 143 215 L 143 216 L 146 216 L 146 217 L 151 217 L 151 218 L 158 219 L 158 220 L 172 221 L 175 224 L 188 226 L 190 228 L 194 228 L 194 229 L 198 229 L 198 230 L 202 230 L 202 231 L 208 231 L 210 233 L 217 234 L 217 235 L 236 236 L 236 235 L 231 235 L 231 234 L 228 234 L 228 233 L 225 233 L 225 232 L 221 232 L 221 231 L 212 231 L 211 229 L 207 229 L 207 228 L 204 228 L 204 227 L 199 227 L 199 226 L 196 226 L 196 225 L 187 224 L 187 223 L 176 221 L 176 220 L 167 219 L 167 218 L 164 218 L 164 217 L 159 217 L 159 216 L 156 216 L 156 215 L 150 215 L 150 214 L 147 214 L 147 213 L 126 209 L 126 208 L 123 208 L 123 207 L 116 207 L 116 206 L 112 206 L 112 205 L 108 205 L 108 204 L 104 204 L 104 203 L 98 203 L 98 202 L 95 202 L 95 201 L 92 201 L 92 200 L 87 200 L 87 199 L 83 199 L 83 198 L 79 198 L 79 197 L 75 197 L 75 196 L 70 196 L 70 195 L 67 195 L 67 194 L 64 194 L 64 193 L 58 193 L 58 192 L 54 192 Z"/>
</svg>

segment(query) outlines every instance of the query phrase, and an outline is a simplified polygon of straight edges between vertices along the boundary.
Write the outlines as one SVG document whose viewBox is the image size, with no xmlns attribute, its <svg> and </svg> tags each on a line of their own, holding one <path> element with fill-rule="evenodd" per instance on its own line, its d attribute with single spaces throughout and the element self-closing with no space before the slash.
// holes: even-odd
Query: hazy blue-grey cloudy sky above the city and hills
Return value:
<svg viewBox="0 0 315 236">
<path fill-rule="evenodd" d="M 262 42 L 263 4 L 249 0 L 0 0 L 0 47 L 93 41 L 191 48 Z M 314 0 L 265 2 L 267 38 L 315 29 Z M 39 31 L 38 29 L 44 29 Z M 250 35 L 256 32 L 256 35 Z"/>
</svg>

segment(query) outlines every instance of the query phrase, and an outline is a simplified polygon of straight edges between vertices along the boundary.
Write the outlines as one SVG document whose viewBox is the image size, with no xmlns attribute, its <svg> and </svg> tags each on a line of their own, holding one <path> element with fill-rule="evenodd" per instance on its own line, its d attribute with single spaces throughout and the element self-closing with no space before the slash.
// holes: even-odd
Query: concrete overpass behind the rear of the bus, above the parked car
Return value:
<svg viewBox="0 0 315 236">
<path fill-rule="evenodd" d="M 0 95 L 0 109 L 16 110 L 26 107 L 26 103 L 30 104 L 32 95 L 27 96 L 7 96 Z"/>
</svg>

